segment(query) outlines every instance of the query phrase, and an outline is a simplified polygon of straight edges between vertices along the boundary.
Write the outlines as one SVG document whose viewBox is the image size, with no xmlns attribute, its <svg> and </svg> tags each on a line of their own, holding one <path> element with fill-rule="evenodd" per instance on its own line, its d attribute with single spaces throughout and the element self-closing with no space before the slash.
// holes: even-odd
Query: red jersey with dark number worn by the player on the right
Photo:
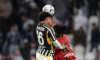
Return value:
<svg viewBox="0 0 100 60">
<path fill-rule="evenodd" d="M 61 50 L 55 48 L 54 60 L 76 60 L 73 50 L 70 49 L 70 41 L 67 35 L 63 35 L 62 37 L 58 37 L 57 40 L 61 44 L 65 44 L 66 48 Z"/>
</svg>

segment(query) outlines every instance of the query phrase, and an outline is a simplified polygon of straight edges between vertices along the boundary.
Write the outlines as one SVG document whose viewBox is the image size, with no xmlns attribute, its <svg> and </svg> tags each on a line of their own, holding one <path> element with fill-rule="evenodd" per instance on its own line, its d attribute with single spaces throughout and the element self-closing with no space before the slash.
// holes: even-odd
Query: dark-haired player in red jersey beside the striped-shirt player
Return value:
<svg viewBox="0 0 100 60">
<path fill-rule="evenodd" d="M 65 35 L 67 31 L 66 27 L 55 25 L 54 30 L 56 33 L 57 40 L 61 44 L 65 44 L 66 48 L 63 50 L 55 48 L 55 54 L 53 59 L 54 60 L 76 60 L 73 50 L 70 49 L 69 38 L 67 35 Z"/>
</svg>

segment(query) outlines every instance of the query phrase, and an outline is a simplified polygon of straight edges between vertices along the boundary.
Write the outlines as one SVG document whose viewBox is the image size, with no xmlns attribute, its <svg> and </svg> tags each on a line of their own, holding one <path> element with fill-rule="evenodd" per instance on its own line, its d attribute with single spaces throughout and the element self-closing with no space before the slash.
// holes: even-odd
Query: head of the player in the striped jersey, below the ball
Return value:
<svg viewBox="0 0 100 60">
<path fill-rule="evenodd" d="M 38 16 L 39 21 L 44 24 L 51 25 L 52 23 L 52 15 L 48 12 L 40 12 Z"/>
</svg>

